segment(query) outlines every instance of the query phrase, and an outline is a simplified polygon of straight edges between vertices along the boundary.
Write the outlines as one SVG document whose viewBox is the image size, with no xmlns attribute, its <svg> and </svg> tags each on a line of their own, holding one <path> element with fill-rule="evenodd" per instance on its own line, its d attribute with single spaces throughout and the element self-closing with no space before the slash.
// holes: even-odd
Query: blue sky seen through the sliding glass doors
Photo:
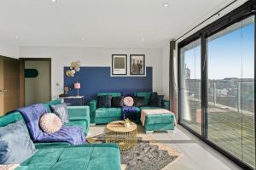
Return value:
<svg viewBox="0 0 256 170">
<path fill-rule="evenodd" d="M 250 19 L 253 19 L 251 17 Z M 208 79 L 226 77 L 253 78 L 254 76 L 254 23 L 241 26 L 207 42 Z M 185 52 L 185 64 L 191 79 L 201 78 L 201 47 Z"/>
</svg>

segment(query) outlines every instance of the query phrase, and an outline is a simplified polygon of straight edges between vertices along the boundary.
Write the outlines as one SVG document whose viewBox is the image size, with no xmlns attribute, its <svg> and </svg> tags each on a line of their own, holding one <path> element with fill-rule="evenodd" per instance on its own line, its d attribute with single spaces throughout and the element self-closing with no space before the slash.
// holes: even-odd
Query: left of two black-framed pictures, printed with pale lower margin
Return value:
<svg viewBox="0 0 256 170">
<path fill-rule="evenodd" d="M 112 75 L 127 75 L 127 55 L 112 55 Z"/>
</svg>

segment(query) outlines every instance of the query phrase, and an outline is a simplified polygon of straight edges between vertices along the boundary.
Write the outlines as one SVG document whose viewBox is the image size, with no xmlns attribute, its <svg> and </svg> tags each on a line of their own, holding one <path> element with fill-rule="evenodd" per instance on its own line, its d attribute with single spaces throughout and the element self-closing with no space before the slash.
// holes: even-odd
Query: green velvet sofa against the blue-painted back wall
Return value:
<svg viewBox="0 0 256 170">
<path fill-rule="evenodd" d="M 137 120 L 136 122 L 140 122 L 141 111 L 143 109 L 159 109 L 160 107 L 152 107 L 149 105 L 149 98 L 152 92 L 135 92 L 134 96 L 142 96 L 144 97 L 143 107 L 137 107 Z M 121 93 L 99 93 L 97 97 L 102 95 L 111 95 L 112 97 L 121 96 Z M 89 103 L 90 105 L 90 123 L 92 125 L 95 124 L 106 124 L 108 122 L 118 121 L 122 119 L 122 108 L 97 108 L 97 99 L 93 99 Z M 169 101 L 163 100 L 162 107 L 164 109 L 169 110 Z"/>
</svg>

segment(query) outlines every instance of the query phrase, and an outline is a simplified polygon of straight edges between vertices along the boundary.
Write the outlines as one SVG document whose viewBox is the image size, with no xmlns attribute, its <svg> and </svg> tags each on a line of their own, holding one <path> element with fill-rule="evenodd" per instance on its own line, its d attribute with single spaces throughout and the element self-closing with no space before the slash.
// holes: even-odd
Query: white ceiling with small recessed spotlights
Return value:
<svg viewBox="0 0 256 170">
<path fill-rule="evenodd" d="M 0 0 L 0 41 L 32 46 L 162 47 L 231 1 Z M 163 7 L 164 3 L 169 6 Z"/>
</svg>

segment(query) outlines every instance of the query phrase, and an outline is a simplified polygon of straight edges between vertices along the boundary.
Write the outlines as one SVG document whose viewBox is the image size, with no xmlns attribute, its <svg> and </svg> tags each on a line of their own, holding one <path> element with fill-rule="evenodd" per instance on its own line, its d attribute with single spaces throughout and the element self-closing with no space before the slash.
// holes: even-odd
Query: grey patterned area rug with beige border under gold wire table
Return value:
<svg viewBox="0 0 256 170">
<path fill-rule="evenodd" d="M 105 143 L 105 135 L 88 138 L 90 144 Z M 146 134 L 137 135 L 137 145 L 128 151 L 121 152 L 122 169 L 125 170 L 160 170 L 177 161 L 182 156 L 178 150 L 150 139 Z"/>
</svg>

